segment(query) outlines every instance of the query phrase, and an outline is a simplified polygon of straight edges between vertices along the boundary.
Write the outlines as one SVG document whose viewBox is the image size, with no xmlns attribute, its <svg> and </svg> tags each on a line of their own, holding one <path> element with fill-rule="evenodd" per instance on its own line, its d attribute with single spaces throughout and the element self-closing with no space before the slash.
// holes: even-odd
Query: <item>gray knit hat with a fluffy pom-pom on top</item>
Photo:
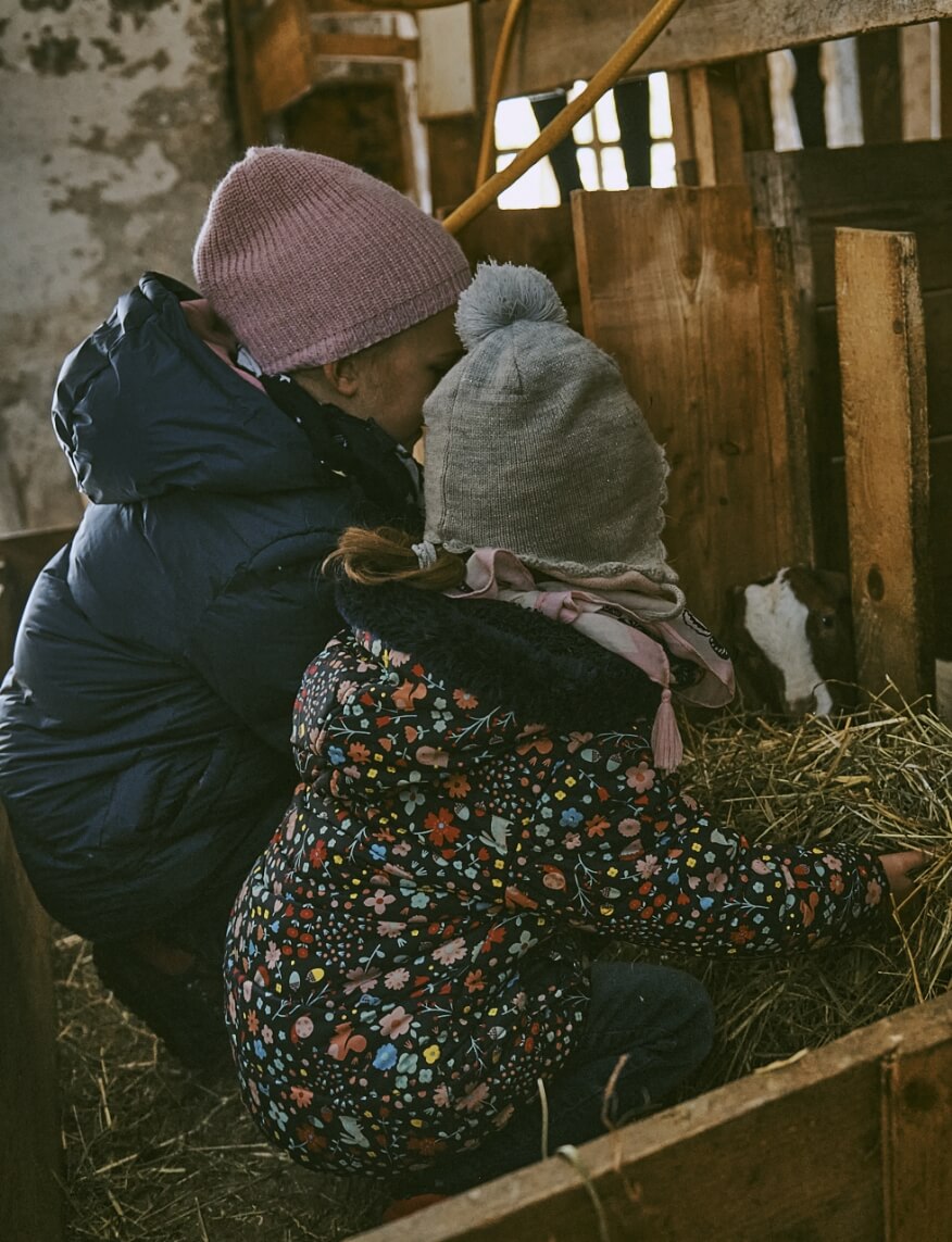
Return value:
<svg viewBox="0 0 952 1242">
<path fill-rule="evenodd" d="M 505 548 L 561 579 L 676 582 L 660 538 L 665 455 L 548 278 L 480 265 L 456 330 L 467 354 L 424 406 L 426 538 Z"/>
</svg>

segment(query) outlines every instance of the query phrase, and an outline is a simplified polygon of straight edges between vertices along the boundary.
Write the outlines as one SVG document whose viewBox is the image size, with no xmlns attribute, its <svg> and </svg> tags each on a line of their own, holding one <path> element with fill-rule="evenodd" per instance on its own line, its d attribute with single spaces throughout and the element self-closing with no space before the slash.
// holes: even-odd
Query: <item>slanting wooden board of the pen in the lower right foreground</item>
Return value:
<svg viewBox="0 0 952 1242">
<path fill-rule="evenodd" d="M 553 1158 L 354 1242 L 597 1240 L 595 1200 L 613 1242 L 931 1242 L 952 1218 L 950 1079 L 952 994 L 585 1144 L 584 1179 Z"/>
</svg>

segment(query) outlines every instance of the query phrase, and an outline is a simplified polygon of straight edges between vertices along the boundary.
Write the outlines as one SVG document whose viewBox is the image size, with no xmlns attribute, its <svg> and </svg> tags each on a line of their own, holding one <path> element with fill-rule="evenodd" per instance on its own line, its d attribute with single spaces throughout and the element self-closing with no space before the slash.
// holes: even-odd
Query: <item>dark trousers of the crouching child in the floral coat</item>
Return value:
<svg viewBox="0 0 952 1242">
<path fill-rule="evenodd" d="M 666 1104 L 707 1056 L 713 1010 L 691 975 L 667 966 L 597 961 L 579 1045 L 546 1084 L 546 1155 Z M 475 1151 L 414 1174 L 400 1194 L 455 1195 L 543 1158 L 543 1107 L 534 1100 Z"/>
</svg>

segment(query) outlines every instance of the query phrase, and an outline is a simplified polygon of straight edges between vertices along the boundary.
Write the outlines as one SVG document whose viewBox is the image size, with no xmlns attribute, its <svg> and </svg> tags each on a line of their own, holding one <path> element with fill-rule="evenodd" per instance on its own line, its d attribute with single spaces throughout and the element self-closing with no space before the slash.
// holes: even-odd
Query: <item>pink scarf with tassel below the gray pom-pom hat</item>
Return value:
<svg viewBox="0 0 952 1242">
<path fill-rule="evenodd" d="M 477 548 L 466 561 L 469 591 L 447 591 L 461 600 L 505 600 L 534 609 L 553 621 L 573 625 L 599 646 L 635 664 L 661 687 L 651 729 L 651 750 L 659 768 L 672 771 L 684 744 L 671 705 L 669 656 L 702 669 L 701 679 L 675 693 L 701 707 L 722 707 L 733 698 L 733 666 L 711 633 L 686 609 L 670 614 L 666 590 L 644 575 L 628 576 L 626 590 L 580 590 L 570 582 L 537 582 L 532 571 L 510 551 Z M 636 589 L 635 589 L 636 587 Z M 620 614 L 620 616 L 619 616 Z"/>
</svg>

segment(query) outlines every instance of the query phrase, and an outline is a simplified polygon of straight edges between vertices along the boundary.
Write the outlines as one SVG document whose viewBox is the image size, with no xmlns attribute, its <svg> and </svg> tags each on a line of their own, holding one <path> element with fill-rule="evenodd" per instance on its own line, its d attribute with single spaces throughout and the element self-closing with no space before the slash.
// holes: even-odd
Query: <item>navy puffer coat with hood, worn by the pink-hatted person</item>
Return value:
<svg viewBox="0 0 952 1242">
<path fill-rule="evenodd" d="M 196 297 L 144 276 L 63 364 L 53 421 L 93 504 L 0 691 L 17 848 L 92 938 L 213 894 L 226 913 L 293 789 L 302 669 L 339 626 L 316 566 L 353 522 L 418 517 L 375 424 L 247 383 L 190 330 Z"/>
</svg>

